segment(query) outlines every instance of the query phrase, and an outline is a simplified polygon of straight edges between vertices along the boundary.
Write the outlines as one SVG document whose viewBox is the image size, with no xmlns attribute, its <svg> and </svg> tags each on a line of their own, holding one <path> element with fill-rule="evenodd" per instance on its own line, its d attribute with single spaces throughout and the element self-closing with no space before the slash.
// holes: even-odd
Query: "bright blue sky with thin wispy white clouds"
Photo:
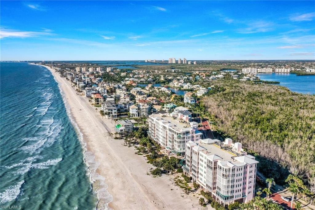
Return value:
<svg viewBox="0 0 315 210">
<path fill-rule="evenodd" d="M 315 1 L 1 1 L 1 60 L 315 59 Z"/>
</svg>

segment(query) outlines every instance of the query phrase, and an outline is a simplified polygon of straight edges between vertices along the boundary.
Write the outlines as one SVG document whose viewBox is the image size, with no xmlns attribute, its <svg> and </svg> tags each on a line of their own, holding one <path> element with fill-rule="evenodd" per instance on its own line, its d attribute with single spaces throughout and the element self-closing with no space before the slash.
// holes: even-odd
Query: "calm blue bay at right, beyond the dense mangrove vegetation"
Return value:
<svg viewBox="0 0 315 210">
<path fill-rule="evenodd" d="M 281 85 L 297 93 L 315 94 L 315 75 L 296 76 L 290 73 L 264 73 L 256 74 L 261 80 L 278 81 Z"/>
</svg>

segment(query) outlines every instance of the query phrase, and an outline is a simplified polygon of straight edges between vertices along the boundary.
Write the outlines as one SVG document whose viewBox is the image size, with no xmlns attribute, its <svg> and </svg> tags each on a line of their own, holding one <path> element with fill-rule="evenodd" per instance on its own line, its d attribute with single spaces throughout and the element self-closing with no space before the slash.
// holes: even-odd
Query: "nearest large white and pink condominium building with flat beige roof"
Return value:
<svg viewBox="0 0 315 210">
<path fill-rule="evenodd" d="M 258 161 L 243 151 L 241 143 L 233 144 L 230 138 L 189 141 L 185 158 L 184 172 L 221 204 L 247 203 L 255 196 Z"/>
</svg>

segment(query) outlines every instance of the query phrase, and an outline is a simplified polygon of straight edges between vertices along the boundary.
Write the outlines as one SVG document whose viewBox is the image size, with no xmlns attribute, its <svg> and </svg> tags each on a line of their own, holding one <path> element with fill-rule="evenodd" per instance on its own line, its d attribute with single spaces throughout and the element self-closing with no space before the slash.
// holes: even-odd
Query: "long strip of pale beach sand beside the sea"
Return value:
<svg viewBox="0 0 315 210">
<path fill-rule="evenodd" d="M 102 119 L 100 108 L 96 111 L 89 104 L 88 98 L 76 94 L 69 81 L 50 67 L 44 67 L 52 72 L 59 83 L 71 117 L 83 134 L 87 152 L 93 154 L 99 163 L 96 172 L 105 178 L 107 190 L 112 195 L 108 208 L 213 209 L 210 205 L 201 207 L 198 204 L 201 195 L 186 195 L 174 184 L 174 176 L 153 178 L 147 175 L 153 166 L 147 163 L 146 158 L 136 155 L 134 147 L 123 146 L 123 140 L 111 138 L 109 132 L 114 132 L 114 121 Z M 98 205 L 99 209 L 106 206 L 104 201 Z"/>
</svg>

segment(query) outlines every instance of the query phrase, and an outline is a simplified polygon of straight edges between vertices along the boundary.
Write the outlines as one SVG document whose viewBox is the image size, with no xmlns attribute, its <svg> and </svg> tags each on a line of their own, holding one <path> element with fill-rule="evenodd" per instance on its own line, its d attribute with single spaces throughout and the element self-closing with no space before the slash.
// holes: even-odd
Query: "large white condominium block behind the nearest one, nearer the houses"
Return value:
<svg viewBox="0 0 315 210">
<path fill-rule="evenodd" d="M 149 115 L 148 135 L 168 153 L 184 155 L 188 141 L 198 141 L 202 133 L 198 123 L 184 123 L 175 120 L 169 114 Z"/>
</svg>

